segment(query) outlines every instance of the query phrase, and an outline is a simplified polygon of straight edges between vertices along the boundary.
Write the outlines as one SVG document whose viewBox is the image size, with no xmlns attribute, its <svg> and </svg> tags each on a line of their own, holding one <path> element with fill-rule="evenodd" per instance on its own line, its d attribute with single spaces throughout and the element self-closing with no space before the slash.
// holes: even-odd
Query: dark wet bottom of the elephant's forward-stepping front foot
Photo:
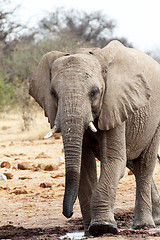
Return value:
<svg viewBox="0 0 160 240">
<path fill-rule="evenodd" d="M 93 222 L 89 226 L 89 233 L 94 237 L 105 233 L 117 234 L 118 228 L 115 224 L 109 222 Z"/>
</svg>

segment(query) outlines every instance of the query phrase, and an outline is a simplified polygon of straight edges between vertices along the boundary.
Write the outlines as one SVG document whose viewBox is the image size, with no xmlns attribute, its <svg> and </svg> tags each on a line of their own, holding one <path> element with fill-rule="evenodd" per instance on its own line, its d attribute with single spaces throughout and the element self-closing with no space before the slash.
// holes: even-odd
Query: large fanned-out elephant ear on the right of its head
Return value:
<svg viewBox="0 0 160 240">
<path fill-rule="evenodd" d="M 146 55 L 126 48 L 118 41 L 110 42 L 100 51 L 106 89 L 98 126 L 101 130 L 109 130 L 145 106 L 151 88 L 143 74 L 142 61 Z"/>
</svg>

